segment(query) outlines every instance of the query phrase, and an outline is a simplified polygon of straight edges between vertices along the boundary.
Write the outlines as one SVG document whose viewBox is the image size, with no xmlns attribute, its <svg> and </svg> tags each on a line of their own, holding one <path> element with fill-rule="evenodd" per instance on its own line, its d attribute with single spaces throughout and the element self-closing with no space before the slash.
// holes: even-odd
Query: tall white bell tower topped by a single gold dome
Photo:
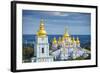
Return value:
<svg viewBox="0 0 100 73">
<path fill-rule="evenodd" d="M 40 27 L 36 36 L 36 47 L 35 47 L 36 62 L 49 62 L 49 42 L 47 32 L 45 30 L 44 21 L 41 19 Z"/>
</svg>

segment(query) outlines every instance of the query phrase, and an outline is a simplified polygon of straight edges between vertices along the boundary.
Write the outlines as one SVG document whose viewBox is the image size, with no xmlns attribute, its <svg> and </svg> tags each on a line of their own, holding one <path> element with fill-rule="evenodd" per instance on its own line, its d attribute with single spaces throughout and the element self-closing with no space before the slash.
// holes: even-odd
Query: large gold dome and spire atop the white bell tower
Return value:
<svg viewBox="0 0 100 73">
<path fill-rule="evenodd" d="M 47 35 L 47 33 L 45 31 L 45 28 L 44 28 L 44 22 L 43 22 L 43 19 L 41 19 L 40 28 L 39 28 L 39 31 L 37 32 L 37 36 L 43 37 L 43 36 L 46 36 L 46 35 Z"/>
</svg>

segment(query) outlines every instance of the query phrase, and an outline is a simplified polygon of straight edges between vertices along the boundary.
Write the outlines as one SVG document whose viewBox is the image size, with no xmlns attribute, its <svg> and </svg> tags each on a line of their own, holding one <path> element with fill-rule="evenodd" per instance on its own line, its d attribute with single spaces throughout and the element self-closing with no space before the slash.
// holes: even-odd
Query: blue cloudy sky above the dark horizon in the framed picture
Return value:
<svg viewBox="0 0 100 73">
<path fill-rule="evenodd" d="M 55 12 L 23 10 L 23 34 L 36 34 L 39 30 L 40 20 L 44 20 L 47 34 L 64 34 L 65 28 L 70 35 L 91 34 L 91 14 L 76 12 Z"/>
</svg>

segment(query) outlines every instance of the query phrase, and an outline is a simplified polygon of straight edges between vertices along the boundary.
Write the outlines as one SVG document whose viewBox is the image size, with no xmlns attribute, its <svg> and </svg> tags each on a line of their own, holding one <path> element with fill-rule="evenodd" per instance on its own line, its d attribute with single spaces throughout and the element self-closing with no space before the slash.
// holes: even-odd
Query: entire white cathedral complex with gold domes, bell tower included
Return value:
<svg viewBox="0 0 100 73">
<path fill-rule="evenodd" d="M 48 35 L 45 30 L 44 21 L 41 19 L 40 27 L 35 37 L 35 49 L 32 62 L 52 62 L 72 60 L 77 57 L 88 56 L 87 52 L 80 47 L 80 40 L 77 37 L 71 37 L 65 28 L 64 34 L 57 39 L 54 37 L 52 44 L 48 41 Z M 51 46 L 51 49 L 49 49 Z"/>
</svg>

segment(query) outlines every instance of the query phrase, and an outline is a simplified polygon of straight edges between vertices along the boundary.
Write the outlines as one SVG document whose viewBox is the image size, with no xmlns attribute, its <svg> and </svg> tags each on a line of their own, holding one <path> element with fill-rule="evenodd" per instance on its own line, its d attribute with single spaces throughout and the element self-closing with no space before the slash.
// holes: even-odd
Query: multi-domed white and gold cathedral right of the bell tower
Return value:
<svg viewBox="0 0 100 73">
<path fill-rule="evenodd" d="M 68 34 L 66 29 L 62 37 L 59 37 L 58 40 L 54 37 L 52 40 L 52 49 L 57 50 L 58 47 L 60 50 L 60 60 L 75 59 L 80 56 L 80 54 L 77 53 L 78 50 L 81 50 L 79 38 L 77 37 L 75 40 L 74 37 Z M 56 54 L 55 57 L 57 57 Z"/>
</svg>

